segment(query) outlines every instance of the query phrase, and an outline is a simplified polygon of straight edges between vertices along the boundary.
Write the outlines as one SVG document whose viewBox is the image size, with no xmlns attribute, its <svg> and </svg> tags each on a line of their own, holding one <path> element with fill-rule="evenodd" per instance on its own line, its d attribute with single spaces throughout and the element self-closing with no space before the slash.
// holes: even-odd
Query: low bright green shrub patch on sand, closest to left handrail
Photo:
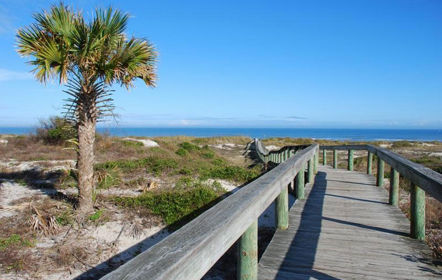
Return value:
<svg viewBox="0 0 442 280">
<path fill-rule="evenodd" d="M 213 188 L 200 184 L 189 190 L 146 192 L 136 197 L 116 197 L 115 201 L 124 207 L 145 207 L 162 217 L 166 224 L 182 225 L 208 209 L 219 196 Z"/>
</svg>

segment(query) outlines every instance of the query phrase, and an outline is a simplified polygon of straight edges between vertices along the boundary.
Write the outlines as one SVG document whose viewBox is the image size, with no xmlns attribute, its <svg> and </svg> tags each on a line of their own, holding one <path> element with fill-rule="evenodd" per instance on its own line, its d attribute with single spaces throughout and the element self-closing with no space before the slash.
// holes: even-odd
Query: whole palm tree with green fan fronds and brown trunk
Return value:
<svg viewBox="0 0 442 280">
<path fill-rule="evenodd" d="M 17 31 L 17 52 L 37 81 L 65 84 L 69 94 L 67 119 L 78 131 L 77 169 L 79 209 L 93 210 L 94 141 L 97 121 L 111 114 L 108 86 L 127 89 L 139 78 L 149 87 L 156 82 L 157 52 L 146 39 L 125 35 L 129 15 L 111 7 L 96 9 L 86 21 L 60 2 L 33 15 L 35 22 Z"/>
</svg>

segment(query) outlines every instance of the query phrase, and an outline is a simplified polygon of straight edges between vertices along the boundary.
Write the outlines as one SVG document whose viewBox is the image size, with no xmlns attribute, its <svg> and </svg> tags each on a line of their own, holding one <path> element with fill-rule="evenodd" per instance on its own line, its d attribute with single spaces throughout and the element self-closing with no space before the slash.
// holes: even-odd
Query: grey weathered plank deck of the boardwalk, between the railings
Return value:
<svg viewBox="0 0 442 280">
<path fill-rule="evenodd" d="M 289 211 L 258 264 L 260 280 L 442 279 L 423 241 L 376 179 L 319 167 L 304 200 Z"/>
</svg>

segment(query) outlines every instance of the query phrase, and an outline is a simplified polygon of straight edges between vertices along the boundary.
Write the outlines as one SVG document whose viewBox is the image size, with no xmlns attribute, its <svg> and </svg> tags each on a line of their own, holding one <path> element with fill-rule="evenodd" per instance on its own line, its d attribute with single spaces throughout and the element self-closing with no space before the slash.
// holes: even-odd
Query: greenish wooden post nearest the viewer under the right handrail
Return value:
<svg viewBox="0 0 442 280">
<path fill-rule="evenodd" d="M 410 187 L 410 237 L 425 239 L 425 192 L 413 183 Z"/>
</svg>

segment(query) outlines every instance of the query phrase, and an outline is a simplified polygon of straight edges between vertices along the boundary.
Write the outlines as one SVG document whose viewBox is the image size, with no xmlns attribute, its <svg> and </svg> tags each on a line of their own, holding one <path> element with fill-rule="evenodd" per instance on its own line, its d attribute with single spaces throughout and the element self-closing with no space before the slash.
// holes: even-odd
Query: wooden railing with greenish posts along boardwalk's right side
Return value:
<svg viewBox="0 0 442 280">
<path fill-rule="evenodd" d="M 411 181 L 410 188 L 410 236 L 425 239 L 425 193 L 442 202 L 442 174 L 416 164 L 387 149 L 374 145 L 321 146 L 323 164 L 327 164 L 327 150 L 333 151 L 333 168 L 337 168 L 337 150 L 348 151 L 348 170 L 353 170 L 354 150 L 367 150 L 367 173 L 372 174 L 373 155 L 377 156 L 376 185 L 383 187 L 385 163 L 390 168 L 389 204 L 397 205 L 399 174 Z"/>
</svg>

